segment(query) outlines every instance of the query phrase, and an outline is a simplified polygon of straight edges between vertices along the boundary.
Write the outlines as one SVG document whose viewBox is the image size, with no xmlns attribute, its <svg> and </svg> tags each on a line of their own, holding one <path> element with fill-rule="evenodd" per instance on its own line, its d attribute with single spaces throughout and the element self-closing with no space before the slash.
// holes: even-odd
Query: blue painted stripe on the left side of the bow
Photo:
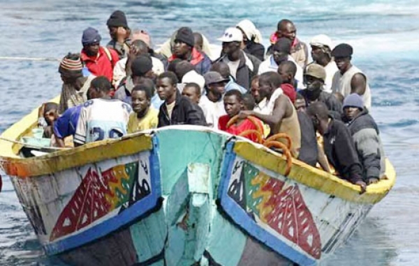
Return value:
<svg viewBox="0 0 419 266">
<path fill-rule="evenodd" d="M 89 228 L 82 233 L 78 233 L 77 235 L 66 237 L 64 240 L 58 240 L 57 242 L 46 244 L 44 249 L 47 255 L 55 255 L 70 249 L 75 249 L 77 247 L 81 247 L 84 244 L 88 244 L 89 242 L 97 240 L 98 238 L 105 237 L 113 231 L 118 230 L 119 228 L 122 228 L 123 226 L 126 226 L 127 224 L 137 220 L 142 215 L 147 214 L 147 212 L 153 208 L 156 208 L 159 203 L 159 198 L 161 197 L 160 166 L 158 156 L 159 142 L 156 138 L 153 138 L 153 146 L 154 149 L 152 150 L 149 157 L 149 165 L 152 166 L 150 170 L 152 180 L 152 193 L 145 198 L 142 198 L 137 203 L 131 205 L 130 208 L 117 214 L 117 216 L 103 221 L 101 224 Z"/>
</svg>

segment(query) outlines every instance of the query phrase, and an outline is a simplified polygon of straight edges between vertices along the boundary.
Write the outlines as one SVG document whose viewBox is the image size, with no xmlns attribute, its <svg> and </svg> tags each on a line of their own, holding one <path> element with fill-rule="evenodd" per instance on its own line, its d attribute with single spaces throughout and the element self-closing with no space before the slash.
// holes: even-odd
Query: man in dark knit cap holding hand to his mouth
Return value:
<svg viewBox="0 0 419 266">
<path fill-rule="evenodd" d="M 114 49 L 118 53 L 119 59 L 126 58 L 129 51 L 128 38 L 130 36 L 130 29 L 126 22 L 125 13 L 116 10 L 110 15 L 106 25 L 108 26 L 111 38 L 106 47 Z"/>
</svg>

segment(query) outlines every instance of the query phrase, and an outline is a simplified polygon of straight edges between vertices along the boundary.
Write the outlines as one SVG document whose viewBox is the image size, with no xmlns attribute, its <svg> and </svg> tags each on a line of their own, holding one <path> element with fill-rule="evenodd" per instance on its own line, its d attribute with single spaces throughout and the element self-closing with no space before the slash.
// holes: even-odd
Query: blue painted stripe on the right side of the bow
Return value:
<svg viewBox="0 0 419 266">
<path fill-rule="evenodd" d="M 231 148 L 233 150 L 233 148 Z M 227 154 L 226 154 L 227 156 Z M 249 235 L 255 237 L 260 242 L 267 245 L 282 256 L 293 260 L 302 266 L 316 265 L 317 260 L 310 258 L 304 253 L 293 249 L 286 242 L 280 240 L 276 236 L 269 233 L 267 230 L 261 228 L 256 221 L 249 217 L 249 214 L 243 210 L 230 196 L 228 196 L 228 182 L 230 181 L 230 175 L 233 170 L 233 164 L 235 162 L 236 155 L 232 152 L 230 160 L 225 160 L 223 169 L 226 171 L 221 175 L 221 185 L 219 191 L 219 199 L 221 200 L 221 206 L 228 216 L 235 221 L 235 223 L 243 228 Z"/>
</svg>

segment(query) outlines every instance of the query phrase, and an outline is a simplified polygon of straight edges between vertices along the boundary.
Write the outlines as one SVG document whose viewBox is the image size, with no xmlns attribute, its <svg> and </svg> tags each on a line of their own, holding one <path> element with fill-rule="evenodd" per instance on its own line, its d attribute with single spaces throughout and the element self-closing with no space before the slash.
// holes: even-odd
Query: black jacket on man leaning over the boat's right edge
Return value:
<svg viewBox="0 0 419 266">
<path fill-rule="evenodd" d="M 340 177 L 352 183 L 362 180 L 362 166 L 348 127 L 332 118 L 323 141 L 325 154 Z"/>
</svg>

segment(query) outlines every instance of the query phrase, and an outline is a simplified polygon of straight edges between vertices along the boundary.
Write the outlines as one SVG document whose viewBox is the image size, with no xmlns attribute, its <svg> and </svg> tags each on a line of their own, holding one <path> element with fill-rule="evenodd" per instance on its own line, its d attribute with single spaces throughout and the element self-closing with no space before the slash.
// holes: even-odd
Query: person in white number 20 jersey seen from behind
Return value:
<svg viewBox="0 0 419 266">
<path fill-rule="evenodd" d="M 91 81 L 87 92 L 88 100 L 80 109 L 75 129 L 75 146 L 126 135 L 126 125 L 132 109 L 125 102 L 112 100 L 111 88 L 112 84 L 105 76 L 96 77 Z"/>
</svg>

